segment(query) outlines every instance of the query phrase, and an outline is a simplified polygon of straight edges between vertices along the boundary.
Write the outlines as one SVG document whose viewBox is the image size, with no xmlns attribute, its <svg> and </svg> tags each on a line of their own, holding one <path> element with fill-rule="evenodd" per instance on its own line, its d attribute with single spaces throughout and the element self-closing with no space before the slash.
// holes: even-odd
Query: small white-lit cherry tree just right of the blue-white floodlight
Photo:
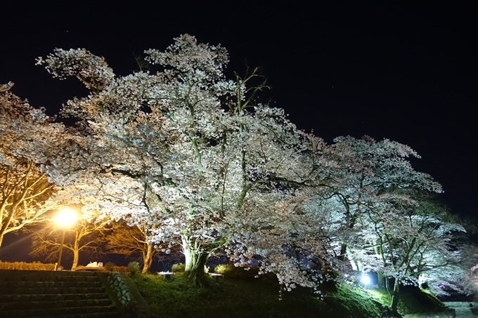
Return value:
<svg viewBox="0 0 478 318">
<path fill-rule="evenodd" d="M 452 235 L 465 232 L 463 226 L 447 221 L 436 209 L 425 210 L 425 202 L 411 204 L 403 199 L 410 198 L 395 196 L 386 208 L 367 211 L 373 227 L 369 237 L 373 239 L 368 240 L 370 245 L 362 247 L 362 255 L 356 255 L 369 269 L 383 274 L 385 286 L 392 294 L 394 312 L 401 284 L 418 285 L 425 276 L 436 279 L 444 272 L 453 272 L 457 281 L 463 274 L 457 270 L 460 251 L 451 246 Z M 394 279 L 393 286 L 389 286 L 390 278 Z M 452 279 L 450 275 L 448 279 Z M 436 286 L 429 283 L 436 292 Z"/>
</svg>

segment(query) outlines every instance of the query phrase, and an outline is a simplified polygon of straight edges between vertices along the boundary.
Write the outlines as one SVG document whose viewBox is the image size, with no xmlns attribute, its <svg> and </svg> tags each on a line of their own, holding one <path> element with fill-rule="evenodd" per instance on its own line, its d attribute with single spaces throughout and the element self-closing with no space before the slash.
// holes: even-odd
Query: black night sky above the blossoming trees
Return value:
<svg viewBox="0 0 478 318">
<path fill-rule="evenodd" d="M 134 55 L 193 34 L 228 49 L 229 74 L 263 67 L 273 87 L 264 101 L 299 128 L 329 143 L 370 135 L 411 146 L 451 210 L 476 217 L 478 1 L 314 2 L 8 1 L 0 83 L 53 114 L 86 89 L 52 79 L 34 65 L 39 55 L 86 48 L 128 74 Z"/>
</svg>

